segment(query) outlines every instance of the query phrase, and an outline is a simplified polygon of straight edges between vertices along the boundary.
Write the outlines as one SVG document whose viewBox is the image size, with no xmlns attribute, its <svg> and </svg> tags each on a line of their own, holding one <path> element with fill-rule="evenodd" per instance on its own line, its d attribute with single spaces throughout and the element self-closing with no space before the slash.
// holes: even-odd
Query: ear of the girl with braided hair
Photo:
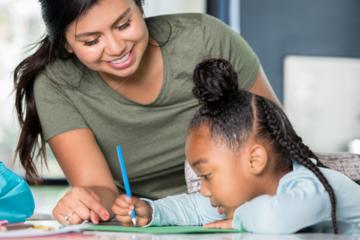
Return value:
<svg viewBox="0 0 360 240">
<path fill-rule="evenodd" d="M 254 175 L 262 174 L 268 163 L 268 153 L 264 146 L 254 144 L 250 149 L 249 167 Z"/>
</svg>

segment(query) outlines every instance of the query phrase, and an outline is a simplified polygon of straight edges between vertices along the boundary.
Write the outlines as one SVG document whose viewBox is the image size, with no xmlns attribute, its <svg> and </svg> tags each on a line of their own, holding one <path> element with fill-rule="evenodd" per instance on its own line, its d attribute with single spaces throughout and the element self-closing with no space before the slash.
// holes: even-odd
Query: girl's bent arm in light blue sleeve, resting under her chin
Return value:
<svg viewBox="0 0 360 240">
<path fill-rule="evenodd" d="M 288 184 L 276 195 L 262 195 L 235 210 L 232 226 L 254 233 L 295 233 L 330 220 L 329 196 L 315 179 Z"/>
</svg>

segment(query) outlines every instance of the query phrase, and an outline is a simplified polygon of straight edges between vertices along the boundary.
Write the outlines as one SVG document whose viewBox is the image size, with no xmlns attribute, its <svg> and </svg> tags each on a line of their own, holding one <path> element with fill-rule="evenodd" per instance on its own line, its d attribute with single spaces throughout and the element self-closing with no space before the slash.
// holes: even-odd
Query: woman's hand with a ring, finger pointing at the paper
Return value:
<svg viewBox="0 0 360 240">
<path fill-rule="evenodd" d="M 91 221 L 98 224 L 107 221 L 110 214 L 101 204 L 99 196 L 90 188 L 73 187 L 56 204 L 54 218 L 61 224 L 79 224 Z"/>
</svg>

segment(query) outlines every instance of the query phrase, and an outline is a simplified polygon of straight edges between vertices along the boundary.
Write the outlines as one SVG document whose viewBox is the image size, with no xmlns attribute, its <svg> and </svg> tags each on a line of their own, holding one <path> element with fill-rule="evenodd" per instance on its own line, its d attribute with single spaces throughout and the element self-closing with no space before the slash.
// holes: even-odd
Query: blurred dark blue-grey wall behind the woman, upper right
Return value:
<svg viewBox="0 0 360 240">
<path fill-rule="evenodd" d="M 359 0 L 241 0 L 240 16 L 280 99 L 287 55 L 360 57 Z"/>
</svg>

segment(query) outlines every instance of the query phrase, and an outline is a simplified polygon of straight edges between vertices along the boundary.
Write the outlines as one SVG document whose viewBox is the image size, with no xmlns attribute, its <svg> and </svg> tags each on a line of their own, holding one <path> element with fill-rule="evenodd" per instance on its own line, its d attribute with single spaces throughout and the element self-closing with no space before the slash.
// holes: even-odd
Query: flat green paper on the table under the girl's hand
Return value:
<svg viewBox="0 0 360 240">
<path fill-rule="evenodd" d="M 123 227 L 110 225 L 91 225 L 85 231 L 130 232 L 149 234 L 184 234 L 184 233 L 241 233 L 237 229 L 203 228 L 199 226 L 153 226 L 153 227 Z"/>
</svg>

